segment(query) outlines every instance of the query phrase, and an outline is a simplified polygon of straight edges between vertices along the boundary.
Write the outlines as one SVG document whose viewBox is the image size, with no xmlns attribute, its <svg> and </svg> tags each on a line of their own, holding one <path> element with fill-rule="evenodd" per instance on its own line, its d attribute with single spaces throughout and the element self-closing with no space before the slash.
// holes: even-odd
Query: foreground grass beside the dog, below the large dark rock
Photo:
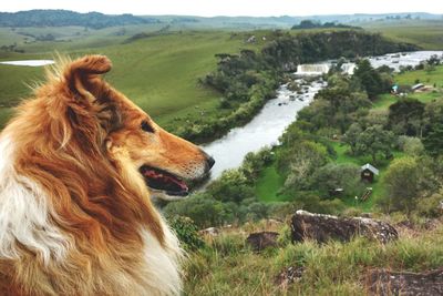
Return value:
<svg viewBox="0 0 443 296">
<path fill-rule="evenodd" d="M 372 268 L 424 272 L 443 265 L 441 224 L 432 231 L 400 229 L 399 241 L 387 245 L 363 238 L 282 243 L 261 253 L 246 247 L 241 233 L 222 234 L 190 254 L 185 295 L 367 295 Z M 279 286 L 278 274 L 290 266 L 303 268 L 301 278 Z"/>
</svg>

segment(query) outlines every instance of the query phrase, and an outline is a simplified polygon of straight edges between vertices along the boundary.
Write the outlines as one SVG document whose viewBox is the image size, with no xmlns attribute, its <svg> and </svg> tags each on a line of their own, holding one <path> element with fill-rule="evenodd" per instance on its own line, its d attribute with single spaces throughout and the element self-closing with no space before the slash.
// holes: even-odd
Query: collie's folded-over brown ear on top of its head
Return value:
<svg viewBox="0 0 443 296">
<path fill-rule="evenodd" d="M 92 103 L 97 100 L 105 83 L 100 78 L 112 68 L 105 55 L 86 55 L 69 63 L 63 70 L 65 86 L 73 94 L 73 99 Z M 86 102 L 79 102 L 85 104 Z"/>
</svg>

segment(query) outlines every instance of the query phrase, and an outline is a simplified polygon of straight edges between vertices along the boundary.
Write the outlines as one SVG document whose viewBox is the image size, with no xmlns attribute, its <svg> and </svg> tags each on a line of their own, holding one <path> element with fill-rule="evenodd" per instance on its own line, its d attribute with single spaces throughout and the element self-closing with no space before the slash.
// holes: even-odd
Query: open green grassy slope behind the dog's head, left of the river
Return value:
<svg viewBox="0 0 443 296">
<path fill-rule="evenodd" d="M 177 32 L 127 44 L 114 40 L 116 44 L 96 48 L 95 43 L 87 43 L 90 48 L 69 50 L 69 53 L 74 57 L 85 53 L 109 55 L 114 69 L 106 74 L 106 80 L 161 124 L 172 124 L 177 116 L 200 116 L 202 111 L 206 115 L 216 115 L 220 94 L 199 85 L 197 79 L 215 69 L 214 54 L 262 45 L 260 42 L 245 44 L 243 40 L 244 35 L 230 38 L 227 32 Z M 61 44 L 62 51 L 64 45 Z M 51 45 L 47 47 L 41 53 L 21 54 L 20 59 L 51 58 L 52 52 L 48 52 Z M 17 58 L 18 54 L 11 54 L 2 60 Z M 0 65 L 0 104 L 9 105 L 18 98 L 29 95 L 23 83 L 41 79 L 42 73 L 42 68 Z M 0 110 L 0 116 L 4 112 Z M 4 120 L 0 118 L 0 123 Z"/>
</svg>

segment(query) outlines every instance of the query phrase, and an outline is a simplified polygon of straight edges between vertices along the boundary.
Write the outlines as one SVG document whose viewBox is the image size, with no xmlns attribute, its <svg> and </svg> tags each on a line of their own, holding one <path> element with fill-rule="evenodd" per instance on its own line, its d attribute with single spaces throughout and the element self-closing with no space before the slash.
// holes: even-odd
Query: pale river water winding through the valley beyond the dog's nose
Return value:
<svg viewBox="0 0 443 296">
<path fill-rule="evenodd" d="M 408 53 L 390 53 L 380 57 L 371 57 L 374 68 L 388 65 L 399 70 L 400 65 L 416 65 L 421 61 L 427 60 L 431 55 L 441 57 L 443 51 L 416 51 Z M 318 63 L 321 64 L 321 63 Z M 323 63 L 329 65 L 330 63 Z M 321 72 L 328 67 L 299 65 L 302 74 L 309 75 L 312 72 Z M 352 63 L 347 63 L 344 71 L 351 72 Z M 296 73 L 297 74 L 297 73 Z M 300 73 L 299 73 L 300 74 Z M 317 74 L 317 73 L 316 73 Z M 238 167 L 248 152 L 256 152 L 264 146 L 270 146 L 278 143 L 278 137 L 285 129 L 296 120 L 297 112 L 308 105 L 315 94 L 326 86 L 321 80 L 307 85 L 306 93 L 297 94 L 281 85 L 277 92 L 277 99 L 269 100 L 259 114 L 249 123 L 241 127 L 233 129 L 228 134 L 202 147 L 210 154 L 216 163 L 212 170 L 210 178 L 218 177 L 227 169 Z M 292 96 L 292 99 L 290 98 Z M 293 100 L 295 98 L 295 100 Z M 302 99 L 303 101 L 300 101 Z"/>
</svg>

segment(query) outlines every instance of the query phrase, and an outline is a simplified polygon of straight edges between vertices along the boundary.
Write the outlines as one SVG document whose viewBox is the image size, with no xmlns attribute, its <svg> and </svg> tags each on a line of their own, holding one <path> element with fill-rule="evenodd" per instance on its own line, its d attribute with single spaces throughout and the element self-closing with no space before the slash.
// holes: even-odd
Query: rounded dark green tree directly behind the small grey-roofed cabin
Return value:
<svg viewBox="0 0 443 296">
<path fill-rule="evenodd" d="M 377 163 L 377 154 L 383 153 L 388 159 L 392 155 L 394 134 L 383 130 L 381 125 L 372 125 L 365 129 L 357 140 L 357 153 L 370 154 L 372 162 Z"/>
</svg>

